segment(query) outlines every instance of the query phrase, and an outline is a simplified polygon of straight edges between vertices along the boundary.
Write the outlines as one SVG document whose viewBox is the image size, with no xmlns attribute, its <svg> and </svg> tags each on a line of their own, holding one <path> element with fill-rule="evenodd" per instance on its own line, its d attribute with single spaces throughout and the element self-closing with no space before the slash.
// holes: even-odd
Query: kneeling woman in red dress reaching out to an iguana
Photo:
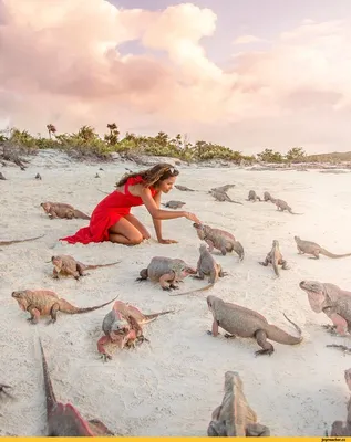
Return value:
<svg viewBox="0 0 351 442">
<path fill-rule="evenodd" d="M 61 238 L 71 244 L 78 242 L 111 241 L 120 244 L 135 245 L 151 235 L 146 228 L 131 213 L 131 208 L 145 204 L 161 244 L 176 243 L 174 240 L 162 238 L 162 220 L 187 218 L 198 222 L 198 218 L 190 212 L 161 210 L 161 193 L 172 190 L 179 171 L 168 164 L 158 164 L 151 169 L 124 176 L 117 183 L 116 190 L 104 198 L 94 209 L 90 225 L 80 229 L 73 236 Z"/>
</svg>

